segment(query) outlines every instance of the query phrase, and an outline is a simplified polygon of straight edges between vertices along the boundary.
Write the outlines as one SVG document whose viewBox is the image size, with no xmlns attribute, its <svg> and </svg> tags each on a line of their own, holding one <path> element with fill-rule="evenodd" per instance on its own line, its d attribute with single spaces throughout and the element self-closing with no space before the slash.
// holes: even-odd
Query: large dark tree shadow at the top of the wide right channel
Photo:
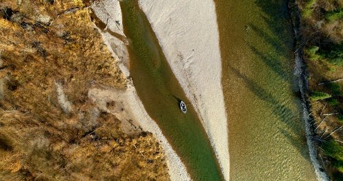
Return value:
<svg viewBox="0 0 343 181">
<path fill-rule="evenodd" d="M 290 81 L 289 70 L 294 46 L 292 23 L 287 8 L 287 1 L 257 0 L 255 4 L 259 7 L 261 22 L 248 23 L 252 33 L 263 40 L 263 47 L 255 46 L 255 42 L 248 41 L 250 50 L 255 53 L 259 60 L 270 67 L 274 73 L 284 80 Z M 259 42 L 261 44 L 261 42 Z M 271 50 L 271 51 L 270 51 Z M 292 63 L 291 63 L 292 64 Z"/>
</svg>

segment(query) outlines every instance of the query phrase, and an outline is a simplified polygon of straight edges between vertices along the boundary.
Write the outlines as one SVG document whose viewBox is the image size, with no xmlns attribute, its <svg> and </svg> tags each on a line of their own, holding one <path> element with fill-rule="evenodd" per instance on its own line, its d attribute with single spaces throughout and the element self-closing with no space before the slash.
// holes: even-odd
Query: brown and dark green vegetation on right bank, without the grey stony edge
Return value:
<svg viewBox="0 0 343 181">
<path fill-rule="evenodd" d="M 303 42 L 298 46 L 305 50 L 310 73 L 311 116 L 318 135 L 320 162 L 332 180 L 342 180 L 343 159 L 338 155 L 343 153 L 335 151 L 343 150 L 343 2 L 296 0 L 296 3 L 303 34 Z"/>
</svg>

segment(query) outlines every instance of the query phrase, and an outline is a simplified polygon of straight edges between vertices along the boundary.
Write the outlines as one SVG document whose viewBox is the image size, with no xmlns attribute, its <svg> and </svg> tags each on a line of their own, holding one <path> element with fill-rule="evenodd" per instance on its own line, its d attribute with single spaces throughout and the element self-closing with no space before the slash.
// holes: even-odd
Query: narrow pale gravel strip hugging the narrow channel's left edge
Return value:
<svg viewBox="0 0 343 181">
<path fill-rule="evenodd" d="M 121 16 L 121 9 L 117 8 L 117 12 L 114 11 L 104 11 L 107 10 L 107 8 L 110 8 L 106 6 L 107 4 L 110 6 L 113 6 L 113 4 L 116 4 L 118 1 L 106 1 L 106 3 L 102 3 L 97 8 L 94 8 L 95 14 L 97 17 L 100 18 L 103 22 L 106 22 L 106 19 L 115 19 L 117 16 Z M 119 3 L 116 4 L 117 6 Z M 119 11 L 120 10 L 120 11 Z M 120 13 L 119 13 L 119 12 Z M 105 13 L 104 13 L 105 12 Z M 108 13 L 114 13 L 114 14 L 108 14 Z M 117 16 L 115 15 L 117 14 Z M 118 15 L 119 14 L 119 15 Z M 117 29 L 116 25 L 113 25 L 116 21 L 119 21 L 120 24 L 122 24 L 122 21 L 120 21 L 121 18 L 115 19 L 115 21 L 108 21 L 109 25 L 107 26 L 108 29 L 112 32 L 115 32 Z M 110 25 L 112 24 L 112 25 Z M 118 57 L 115 51 L 117 49 L 121 49 L 123 51 L 123 54 L 121 54 L 124 58 L 128 57 L 128 50 L 126 49 L 126 43 L 119 40 L 119 38 L 116 38 L 115 36 L 111 35 L 110 32 L 102 32 L 101 29 L 99 29 L 99 32 L 101 32 L 104 42 L 106 43 L 108 49 L 113 54 L 113 57 Z M 115 46 L 113 46 L 115 45 Z M 123 73 L 128 73 L 128 67 L 124 66 L 122 62 L 118 62 L 119 67 L 123 69 Z M 121 64 L 121 66 L 120 66 Z M 126 74 L 128 77 L 129 75 Z M 158 125 L 150 118 L 150 116 L 145 111 L 145 108 L 143 107 L 143 104 L 141 103 L 137 91 L 135 90 L 132 80 L 128 78 L 128 87 L 123 94 L 123 97 L 121 98 L 123 101 L 123 104 L 126 105 L 127 108 L 130 108 L 130 115 L 133 116 L 133 120 L 135 123 L 137 123 L 137 127 L 140 126 L 144 131 L 152 132 L 154 136 L 160 141 L 161 146 L 163 147 L 163 150 L 165 152 L 165 155 L 167 157 L 167 166 L 169 169 L 169 176 L 171 180 L 190 180 L 189 174 L 187 173 L 187 169 L 185 165 L 181 162 L 180 158 L 177 156 L 174 149 L 172 149 L 171 145 L 168 143 L 165 136 L 162 134 L 160 128 L 158 128 Z"/>
</svg>

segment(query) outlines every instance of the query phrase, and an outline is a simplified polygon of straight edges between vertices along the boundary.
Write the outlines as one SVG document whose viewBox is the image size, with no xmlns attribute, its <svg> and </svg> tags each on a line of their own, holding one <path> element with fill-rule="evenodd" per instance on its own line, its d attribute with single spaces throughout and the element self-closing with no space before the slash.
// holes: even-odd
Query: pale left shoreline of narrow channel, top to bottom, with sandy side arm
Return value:
<svg viewBox="0 0 343 181">
<path fill-rule="evenodd" d="M 125 36 L 120 30 L 120 26 L 115 25 L 115 23 L 122 25 L 119 1 L 107 0 L 103 1 L 103 3 L 94 3 L 91 8 L 94 10 L 97 17 L 103 22 L 106 22 L 107 19 L 112 19 L 112 21 L 108 21 L 107 28 L 110 31 Z M 128 50 L 126 49 L 125 43 L 118 38 L 115 38 L 108 32 L 102 32 L 101 29 L 99 29 L 99 32 L 102 34 L 104 43 L 107 45 L 108 50 L 112 53 L 113 57 L 118 60 L 119 68 L 121 71 L 123 71 L 126 77 L 129 77 L 130 72 L 126 66 L 126 61 L 128 60 Z M 137 91 L 134 88 L 130 78 L 128 78 L 126 90 L 109 90 L 108 92 L 104 92 L 104 90 L 91 90 L 89 97 L 92 97 L 92 99 L 97 99 L 95 95 L 108 95 L 106 98 L 102 97 L 102 99 L 113 99 L 121 102 L 125 111 L 113 113 L 115 116 L 121 118 L 121 120 L 124 118 L 132 119 L 136 126 L 140 126 L 142 130 L 152 132 L 152 134 L 154 134 L 157 140 L 160 141 L 159 143 L 165 152 L 171 180 L 191 180 L 185 165 L 182 163 L 174 149 L 172 149 L 171 145 L 167 141 L 167 138 L 165 138 L 161 129 L 158 128 L 156 122 L 153 121 L 145 111 L 145 108 L 143 107 L 143 104 L 139 99 Z"/>
</svg>

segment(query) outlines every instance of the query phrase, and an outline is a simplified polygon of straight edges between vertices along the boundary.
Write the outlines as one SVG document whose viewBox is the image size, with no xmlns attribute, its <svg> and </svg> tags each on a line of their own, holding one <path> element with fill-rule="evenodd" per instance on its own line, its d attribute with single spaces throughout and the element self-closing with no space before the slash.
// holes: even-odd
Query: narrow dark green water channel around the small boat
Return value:
<svg viewBox="0 0 343 181">
<path fill-rule="evenodd" d="M 161 128 L 193 180 L 223 180 L 209 138 L 172 73 L 137 1 L 121 1 L 124 33 L 130 40 L 130 73 L 145 110 Z M 182 99 L 187 114 L 178 106 Z"/>
</svg>

